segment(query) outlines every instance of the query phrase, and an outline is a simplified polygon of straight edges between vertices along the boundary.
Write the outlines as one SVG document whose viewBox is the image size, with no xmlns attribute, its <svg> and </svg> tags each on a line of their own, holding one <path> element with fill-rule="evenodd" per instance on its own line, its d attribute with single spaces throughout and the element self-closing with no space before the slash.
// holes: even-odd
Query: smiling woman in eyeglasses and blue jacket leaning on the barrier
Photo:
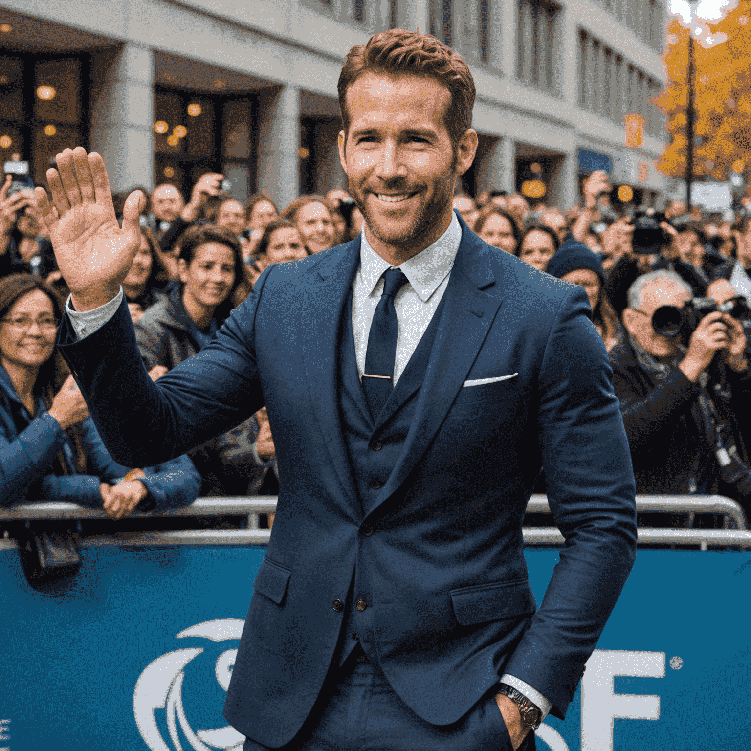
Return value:
<svg viewBox="0 0 751 751">
<path fill-rule="evenodd" d="M 55 347 L 62 305 L 38 276 L 0 280 L 0 505 L 54 499 L 120 519 L 192 503 L 201 478 L 188 457 L 133 468 L 107 453 Z"/>
</svg>

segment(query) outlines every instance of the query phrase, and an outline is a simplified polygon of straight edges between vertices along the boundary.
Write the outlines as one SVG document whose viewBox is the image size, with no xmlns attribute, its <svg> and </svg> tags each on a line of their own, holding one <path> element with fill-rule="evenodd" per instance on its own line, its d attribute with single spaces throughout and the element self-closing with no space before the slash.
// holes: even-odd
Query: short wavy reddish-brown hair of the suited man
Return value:
<svg viewBox="0 0 751 751">
<path fill-rule="evenodd" d="M 404 29 L 391 29 L 373 35 L 367 44 L 352 47 L 337 85 L 345 143 L 349 131 L 347 91 L 363 73 L 425 76 L 445 86 L 451 96 L 443 113 L 443 121 L 456 153 L 461 137 L 472 127 L 475 81 L 466 62 L 451 47 L 433 35 L 406 32 Z"/>
</svg>

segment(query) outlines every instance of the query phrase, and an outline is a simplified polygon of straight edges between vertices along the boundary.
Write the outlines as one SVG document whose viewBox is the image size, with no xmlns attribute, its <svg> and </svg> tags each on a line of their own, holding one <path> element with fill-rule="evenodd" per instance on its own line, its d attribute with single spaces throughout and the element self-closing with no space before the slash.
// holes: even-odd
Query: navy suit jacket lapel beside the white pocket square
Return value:
<svg viewBox="0 0 751 751">
<path fill-rule="evenodd" d="M 445 291 L 445 307 L 428 360 L 415 419 L 379 502 L 369 513 L 399 488 L 433 441 L 501 306 L 502 299 L 497 293 L 482 291 L 495 283 L 488 247 L 469 231 L 464 222 L 461 223 L 462 242 Z"/>
</svg>

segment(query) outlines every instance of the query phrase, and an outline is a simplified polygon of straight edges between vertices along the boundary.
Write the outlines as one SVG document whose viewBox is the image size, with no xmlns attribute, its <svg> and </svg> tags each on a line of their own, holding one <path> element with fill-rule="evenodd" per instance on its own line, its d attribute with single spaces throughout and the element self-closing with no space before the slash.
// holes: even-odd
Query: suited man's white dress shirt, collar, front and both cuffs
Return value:
<svg viewBox="0 0 751 751">
<path fill-rule="evenodd" d="M 400 270 L 407 277 L 409 284 L 403 286 L 394 298 L 397 312 L 397 354 L 394 361 L 394 383 L 409 363 L 409 358 L 420 343 L 425 330 L 430 325 L 441 298 L 448 286 L 451 268 L 457 257 L 462 240 L 462 228 L 456 214 L 451 219 L 448 229 L 418 255 L 400 265 Z M 378 306 L 383 293 L 383 273 L 395 268 L 381 258 L 372 249 L 365 237 L 365 230 L 360 240 L 360 268 L 352 282 L 352 333 L 354 333 L 354 352 L 357 357 L 357 370 L 362 380 L 365 369 L 365 354 L 368 348 L 368 336 L 375 307 Z M 77 336 L 94 333 L 99 327 L 115 315 L 122 300 L 122 288 L 109 303 L 86 312 L 77 312 L 71 307 L 71 298 L 65 303 L 71 325 Z M 550 712 L 550 701 L 528 683 L 520 678 L 505 673 L 502 683 L 508 683 L 523 693 L 542 711 L 543 716 Z"/>
</svg>

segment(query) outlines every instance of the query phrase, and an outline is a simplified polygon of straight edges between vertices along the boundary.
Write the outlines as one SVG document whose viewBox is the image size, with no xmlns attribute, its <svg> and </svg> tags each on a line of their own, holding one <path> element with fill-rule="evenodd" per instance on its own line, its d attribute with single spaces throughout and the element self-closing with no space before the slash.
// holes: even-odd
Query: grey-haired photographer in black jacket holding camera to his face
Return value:
<svg viewBox="0 0 751 751">
<path fill-rule="evenodd" d="M 722 493 L 748 510 L 751 472 L 734 416 L 751 394 L 747 309 L 692 298 L 672 271 L 640 276 L 611 350 L 613 388 L 629 439 L 637 493 Z M 746 312 L 743 312 L 746 311 Z"/>
</svg>

